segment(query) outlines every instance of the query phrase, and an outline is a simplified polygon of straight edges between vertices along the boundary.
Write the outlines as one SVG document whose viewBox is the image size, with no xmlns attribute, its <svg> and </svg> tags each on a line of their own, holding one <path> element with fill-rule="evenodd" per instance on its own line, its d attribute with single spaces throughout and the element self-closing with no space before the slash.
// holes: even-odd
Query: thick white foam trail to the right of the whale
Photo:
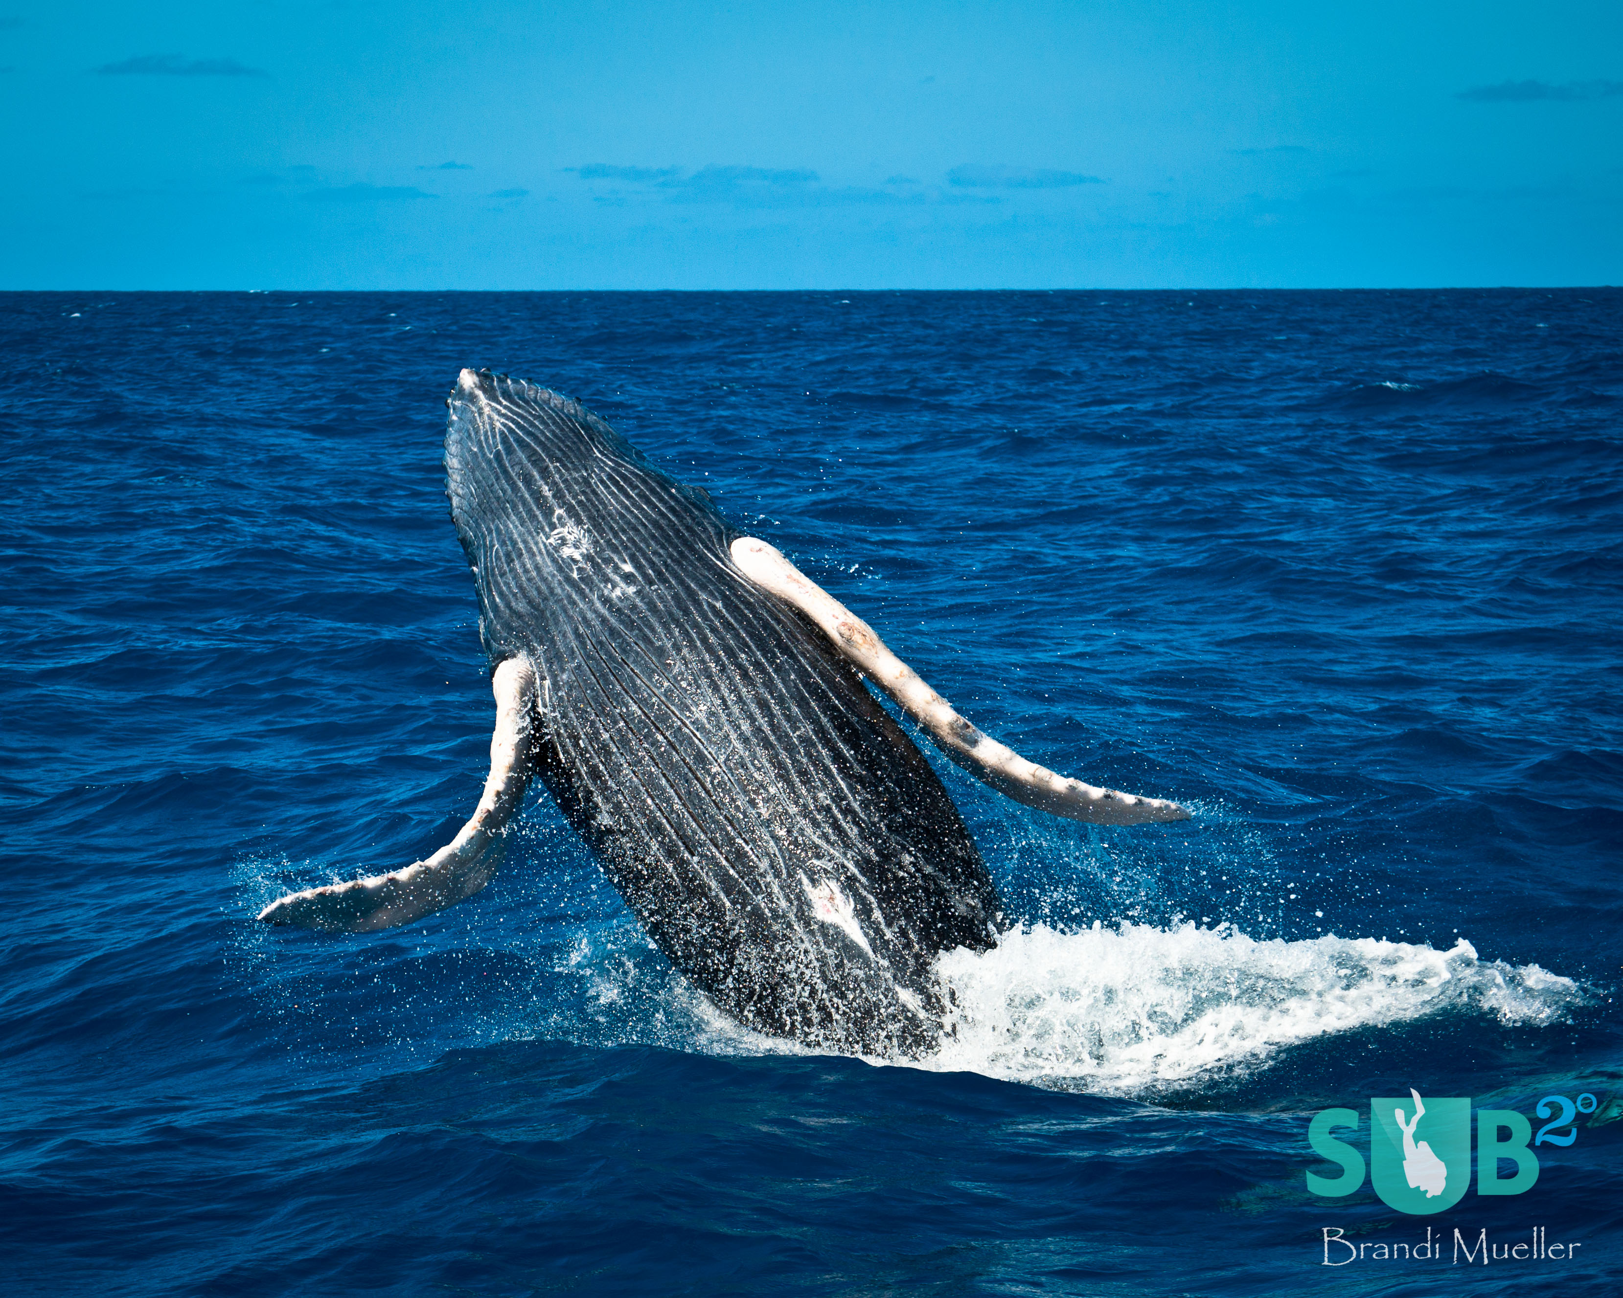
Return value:
<svg viewBox="0 0 1623 1298">
<path fill-rule="evenodd" d="M 1332 1032 L 1451 1009 L 1550 1022 L 1581 999 L 1571 978 L 1480 961 L 1464 939 L 1258 941 L 1193 923 L 1037 925 L 940 972 L 954 1035 L 925 1068 L 1113 1094 L 1199 1087 Z"/>
</svg>

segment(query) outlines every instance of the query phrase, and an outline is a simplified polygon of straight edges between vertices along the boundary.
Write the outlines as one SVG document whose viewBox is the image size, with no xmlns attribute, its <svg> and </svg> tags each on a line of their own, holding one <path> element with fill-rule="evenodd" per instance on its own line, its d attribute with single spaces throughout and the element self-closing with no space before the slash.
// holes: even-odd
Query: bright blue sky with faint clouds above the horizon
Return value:
<svg viewBox="0 0 1623 1298">
<path fill-rule="evenodd" d="M 1623 282 L 1617 0 L 0 0 L 0 68 L 10 289 Z"/>
</svg>

